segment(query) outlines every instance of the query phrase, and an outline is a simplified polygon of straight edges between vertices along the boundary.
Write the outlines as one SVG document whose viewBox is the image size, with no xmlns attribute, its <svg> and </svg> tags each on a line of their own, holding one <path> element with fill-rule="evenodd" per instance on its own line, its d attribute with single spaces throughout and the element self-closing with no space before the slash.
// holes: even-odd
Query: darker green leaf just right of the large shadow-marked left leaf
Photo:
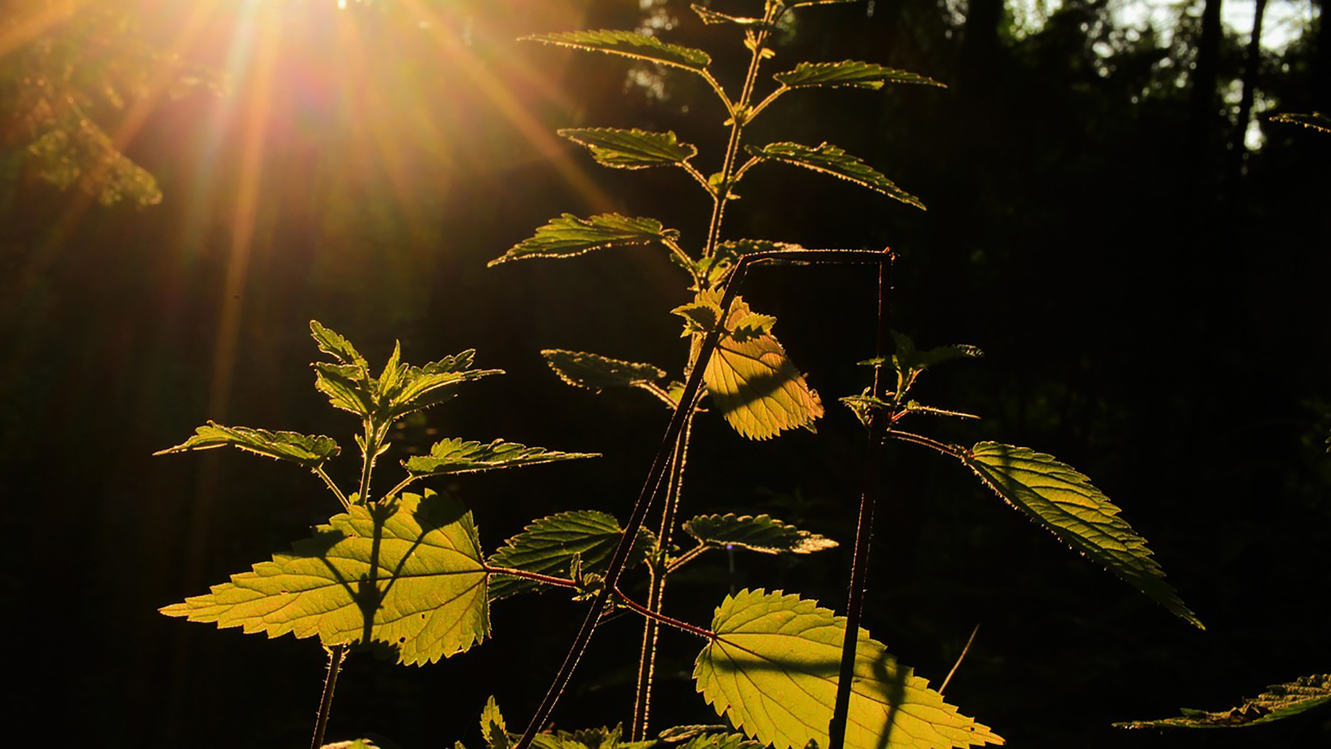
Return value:
<svg viewBox="0 0 1331 749">
<path fill-rule="evenodd" d="M 612 514 L 596 510 L 562 512 L 543 517 L 508 538 L 508 542 L 490 557 L 490 566 L 560 577 L 568 574 L 574 556 L 578 556 L 583 574 L 599 574 L 606 570 L 623 534 L 624 530 Z M 630 566 L 646 560 L 648 549 L 655 544 L 656 536 L 646 528 L 642 529 L 628 557 Z M 536 582 L 520 577 L 495 576 L 490 580 L 491 600 L 535 589 L 538 589 Z"/>
</svg>

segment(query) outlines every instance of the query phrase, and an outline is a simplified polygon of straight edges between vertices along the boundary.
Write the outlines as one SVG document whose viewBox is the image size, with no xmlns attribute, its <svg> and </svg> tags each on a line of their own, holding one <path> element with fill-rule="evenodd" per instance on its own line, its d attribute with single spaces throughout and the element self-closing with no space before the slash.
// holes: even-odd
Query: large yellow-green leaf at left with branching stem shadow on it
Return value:
<svg viewBox="0 0 1331 749">
<path fill-rule="evenodd" d="M 353 505 L 290 553 L 161 609 L 269 637 L 371 642 L 403 664 L 466 650 L 490 632 L 486 570 L 471 513 L 426 490 Z"/>
</svg>

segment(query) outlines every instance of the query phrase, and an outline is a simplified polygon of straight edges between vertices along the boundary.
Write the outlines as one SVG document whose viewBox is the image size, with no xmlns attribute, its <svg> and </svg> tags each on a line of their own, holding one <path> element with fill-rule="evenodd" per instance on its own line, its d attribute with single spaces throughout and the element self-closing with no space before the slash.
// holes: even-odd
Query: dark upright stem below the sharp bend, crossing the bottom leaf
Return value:
<svg viewBox="0 0 1331 749">
<path fill-rule="evenodd" d="M 877 357 L 885 360 L 890 327 L 888 317 L 888 291 L 890 289 L 892 251 L 884 249 L 878 265 L 878 340 Z M 886 374 L 882 364 L 873 368 L 873 397 L 882 400 L 886 393 Z M 884 422 L 890 414 L 872 409 L 869 414 L 869 454 L 864 470 L 864 493 L 860 496 L 860 518 L 855 529 L 855 557 L 851 562 L 851 593 L 845 610 L 845 637 L 841 641 L 841 669 L 836 685 L 836 706 L 828 724 L 828 749 L 845 745 L 845 722 L 851 712 L 851 685 L 855 678 L 855 649 L 860 638 L 860 618 L 864 613 L 864 590 L 869 576 L 869 538 L 873 536 L 873 510 L 882 492 Z M 890 728 L 890 726 L 889 726 Z"/>
</svg>

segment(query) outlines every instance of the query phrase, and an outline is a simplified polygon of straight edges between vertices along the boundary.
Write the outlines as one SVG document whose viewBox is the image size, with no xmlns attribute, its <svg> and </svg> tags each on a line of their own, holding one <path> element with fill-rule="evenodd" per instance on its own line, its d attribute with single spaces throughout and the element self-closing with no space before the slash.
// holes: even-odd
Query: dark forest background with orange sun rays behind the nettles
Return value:
<svg viewBox="0 0 1331 749">
<path fill-rule="evenodd" d="M 985 416 L 938 430 L 1091 476 L 1206 622 L 1194 630 L 1085 564 L 958 466 L 893 446 L 868 628 L 937 684 L 980 622 L 948 697 L 1012 746 L 1331 745 L 1326 710 L 1233 732 L 1109 728 L 1331 668 L 1331 135 L 1267 119 L 1331 109 L 1331 47 L 1323 0 L 1271 0 L 1312 20 L 1256 57 L 1221 24 L 1222 1 L 1250 0 L 1177 3 L 1153 29 L 1106 0 L 1036 20 L 1028 8 L 1022 24 L 1002 0 L 809 9 L 772 72 L 857 59 L 949 88 L 792 93 L 755 136 L 835 143 L 929 211 L 764 167 L 727 216 L 732 237 L 894 248 L 896 327 L 986 352 L 928 376 L 921 397 Z M 7 732 L 61 746 L 303 745 L 317 642 L 156 609 L 266 560 L 335 502 L 272 461 L 152 453 L 213 418 L 330 434 L 345 450 L 334 468 L 354 470 L 354 421 L 311 388 L 318 319 L 373 365 L 401 340 L 407 361 L 476 348 L 508 372 L 405 425 L 389 465 L 442 436 L 604 453 L 451 484 L 487 549 L 554 512 L 626 513 L 668 414 L 640 393 L 567 388 L 538 352 L 672 365 L 683 275 L 650 248 L 486 261 L 566 211 L 654 216 L 699 241 L 707 204 L 687 177 L 598 171 L 552 133 L 673 129 L 707 171 L 724 117 L 684 75 L 515 39 L 650 25 L 724 67 L 739 59 L 731 31 L 675 0 L 237 1 L 202 21 L 206 3 L 117 0 L 69 5 L 5 44 L 24 13 L 53 5 L 0 3 Z M 260 52 L 237 65 L 246 36 Z M 84 101 L 75 120 L 39 111 L 35 81 Z M 128 92 L 121 107 L 109 85 Z M 873 356 L 874 283 L 864 268 L 753 275 L 745 299 L 777 316 L 828 416 L 817 434 L 767 442 L 700 420 L 684 498 L 684 512 L 769 512 L 843 546 L 797 565 L 736 556 L 733 573 L 720 558 L 679 578 L 667 613 L 709 621 L 731 585 L 844 606 L 862 432 L 835 398 L 868 384 L 855 363 Z M 520 725 L 578 606 L 500 601 L 491 641 L 434 666 L 353 657 L 330 738 L 475 744 L 491 693 Z M 600 632 L 560 728 L 624 720 L 638 632 Z M 655 725 L 715 722 L 688 677 L 697 645 L 675 634 Z"/>
</svg>

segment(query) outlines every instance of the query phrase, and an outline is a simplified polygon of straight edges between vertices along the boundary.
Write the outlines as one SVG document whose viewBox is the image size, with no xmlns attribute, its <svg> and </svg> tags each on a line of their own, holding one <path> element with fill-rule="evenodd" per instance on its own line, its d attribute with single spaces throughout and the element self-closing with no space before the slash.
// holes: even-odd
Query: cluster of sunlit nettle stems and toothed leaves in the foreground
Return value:
<svg viewBox="0 0 1331 749">
<path fill-rule="evenodd" d="M 693 300 L 673 312 L 683 319 L 687 356 L 680 382 L 666 371 L 592 353 L 547 351 L 548 364 L 567 382 L 592 390 L 640 388 L 672 412 L 660 448 L 638 500 L 620 524 L 591 510 L 559 512 L 531 522 L 498 550 L 486 554 L 466 506 L 442 492 L 410 493 L 417 481 L 458 473 L 590 457 L 527 448 L 443 440 L 429 454 L 402 462 L 402 477 L 387 492 L 375 492 L 375 458 L 387 446 L 391 425 L 405 414 L 451 397 L 463 382 L 496 371 L 473 369 L 473 352 L 409 367 L 394 353 L 378 376 L 349 341 L 311 324 L 319 349 L 331 357 L 314 365 L 315 385 L 330 402 L 357 414 L 362 432 L 361 481 L 345 492 L 323 470 L 338 453 L 329 437 L 265 432 L 209 424 L 186 442 L 164 452 L 233 445 L 295 462 L 318 476 L 343 512 L 298 541 L 290 552 L 262 562 L 204 596 L 162 609 L 192 621 L 241 626 L 270 637 L 318 636 L 330 653 L 329 674 L 311 746 L 319 746 L 333 689 L 350 648 L 375 650 L 403 664 L 434 662 L 482 642 L 490 629 L 490 601 L 523 592 L 566 588 L 575 606 L 586 609 L 560 670 L 540 706 L 518 736 L 510 734 L 494 698 L 482 713 L 482 736 L 490 749 L 610 749 L 626 741 L 635 749 L 663 742 L 681 749 L 777 749 L 827 746 L 882 749 L 892 746 L 970 746 L 1002 744 L 988 726 L 946 704 L 928 681 L 896 661 L 860 626 L 873 509 L 881 478 L 873 468 L 888 440 L 932 448 L 972 469 L 1000 497 L 1051 530 L 1063 542 L 1109 568 L 1169 610 L 1201 626 L 1151 560 L 1145 540 L 1119 517 L 1119 509 L 1089 480 L 1053 457 L 1025 448 L 980 442 L 950 445 L 905 430 L 913 416 L 966 417 L 922 405 L 910 397 L 920 376 L 945 361 L 978 356 L 972 347 L 917 351 L 890 333 L 886 291 L 890 252 L 805 249 L 772 240 L 723 239 L 723 217 L 735 189 L 756 167 L 793 164 L 849 180 L 922 208 L 914 196 L 884 175 L 831 144 L 753 145 L 747 127 L 784 95 L 809 87 L 880 89 L 889 83 L 938 85 L 904 71 L 861 61 L 799 63 L 779 72 L 776 85 L 763 83 L 761 67 L 775 57 L 773 33 L 787 13 L 828 1 L 767 0 L 761 16 L 737 17 L 697 7 L 704 23 L 737 29 L 749 63 L 739 91 L 727 91 L 712 75 L 708 53 L 627 31 L 548 33 L 530 40 L 604 52 L 681 69 L 700 76 L 728 113 L 720 169 L 705 175 L 692 161 L 697 149 L 671 132 L 579 128 L 560 135 L 587 147 L 592 157 L 615 168 L 677 167 L 711 200 L 705 239 L 689 245 L 659 221 L 620 215 L 580 219 L 563 215 L 536 229 L 494 263 L 538 257 L 571 257 L 595 249 L 656 245 L 683 268 Z M 763 93 L 760 88 L 769 91 Z M 767 514 L 699 514 L 683 520 L 684 469 L 693 418 L 719 412 L 740 434 L 765 440 L 809 426 L 823 416 L 817 393 L 791 364 L 772 335 L 776 320 L 749 309 L 739 296 L 751 265 L 773 261 L 868 263 L 878 268 L 878 355 L 873 384 L 841 398 L 869 433 L 869 469 L 861 497 L 847 616 L 813 600 L 780 590 L 745 589 L 724 596 L 711 622 L 689 624 L 662 612 L 667 580 L 713 549 L 761 553 L 812 553 L 832 540 L 793 528 Z M 655 530 L 646 528 L 656 513 Z M 684 544 L 677 538 L 688 537 Z M 626 594 L 626 570 L 644 574 L 646 601 Z M 591 601 L 590 606 L 586 601 Z M 571 609 L 572 610 L 572 609 Z M 634 710 L 620 728 L 575 733 L 540 733 L 574 674 L 596 626 L 611 613 L 643 618 L 642 646 L 627 658 L 639 661 Z M 679 726 L 648 737 L 656 640 L 662 626 L 697 636 L 701 650 L 693 678 L 697 690 L 725 726 Z M 480 697 L 478 696 L 478 702 Z M 623 741 L 622 741 L 623 738 Z M 461 745 L 459 745 L 461 746 Z"/>
</svg>

